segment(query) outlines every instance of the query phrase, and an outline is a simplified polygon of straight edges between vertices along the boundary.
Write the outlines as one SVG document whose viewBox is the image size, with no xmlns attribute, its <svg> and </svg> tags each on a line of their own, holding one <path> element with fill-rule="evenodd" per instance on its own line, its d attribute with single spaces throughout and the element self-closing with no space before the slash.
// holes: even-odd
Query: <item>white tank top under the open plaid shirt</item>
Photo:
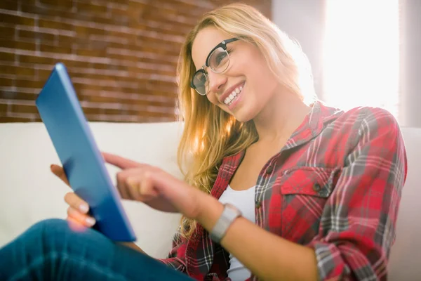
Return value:
<svg viewBox="0 0 421 281">
<path fill-rule="evenodd" d="M 237 207 L 244 218 L 252 223 L 256 223 L 255 217 L 255 186 L 247 190 L 233 190 L 229 185 L 222 193 L 219 201 L 221 203 L 230 203 Z M 232 254 L 229 254 L 228 277 L 232 281 L 243 281 L 250 277 L 251 272 L 243 266 Z"/>
</svg>

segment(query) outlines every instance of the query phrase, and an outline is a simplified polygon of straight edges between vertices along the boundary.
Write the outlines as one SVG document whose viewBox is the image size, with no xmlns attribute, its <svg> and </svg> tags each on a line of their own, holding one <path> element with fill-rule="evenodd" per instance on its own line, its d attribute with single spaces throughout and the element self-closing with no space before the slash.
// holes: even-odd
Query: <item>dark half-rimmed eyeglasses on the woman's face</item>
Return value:
<svg viewBox="0 0 421 281">
<path fill-rule="evenodd" d="M 221 73 L 227 70 L 229 65 L 229 52 L 227 51 L 227 44 L 237 41 L 238 38 L 232 38 L 222 41 L 220 44 L 210 51 L 206 63 L 200 70 L 194 72 L 190 87 L 196 90 L 201 96 L 206 96 L 209 91 L 208 74 L 204 67 L 209 67 L 215 73 Z"/>
</svg>

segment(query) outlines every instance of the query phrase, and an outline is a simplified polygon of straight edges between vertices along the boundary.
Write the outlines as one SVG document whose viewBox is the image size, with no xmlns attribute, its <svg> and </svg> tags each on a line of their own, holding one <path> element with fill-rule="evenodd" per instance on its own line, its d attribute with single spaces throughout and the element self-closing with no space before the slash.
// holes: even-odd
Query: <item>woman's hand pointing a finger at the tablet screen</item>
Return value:
<svg viewBox="0 0 421 281">
<path fill-rule="evenodd" d="M 199 216 L 206 193 L 155 166 L 102 152 L 105 162 L 119 167 L 117 188 L 123 199 L 140 201 L 159 211 L 179 212 L 187 218 Z"/>
</svg>

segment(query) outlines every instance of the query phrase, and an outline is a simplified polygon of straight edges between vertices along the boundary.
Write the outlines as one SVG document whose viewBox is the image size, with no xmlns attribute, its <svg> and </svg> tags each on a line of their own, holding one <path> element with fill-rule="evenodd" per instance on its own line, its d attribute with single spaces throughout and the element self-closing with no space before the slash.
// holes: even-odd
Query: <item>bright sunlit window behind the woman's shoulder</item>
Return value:
<svg viewBox="0 0 421 281">
<path fill-rule="evenodd" d="M 326 0 L 323 100 L 350 109 L 399 105 L 398 0 Z"/>
</svg>

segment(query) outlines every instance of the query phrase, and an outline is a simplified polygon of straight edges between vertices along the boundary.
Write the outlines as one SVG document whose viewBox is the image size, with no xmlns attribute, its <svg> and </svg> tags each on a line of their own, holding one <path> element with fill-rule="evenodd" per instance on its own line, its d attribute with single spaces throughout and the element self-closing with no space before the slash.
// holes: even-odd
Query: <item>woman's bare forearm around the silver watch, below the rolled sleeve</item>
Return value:
<svg viewBox="0 0 421 281">
<path fill-rule="evenodd" d="M 203 197 L 201 205 L 198 222 L 210 231 L 222 214 L 222 204 L 213 197 Z M 221 245 L 262 280 L 317 280 L 313 249 L 284 240 L 246 218 L 232 223 Z"/>
</svg>

